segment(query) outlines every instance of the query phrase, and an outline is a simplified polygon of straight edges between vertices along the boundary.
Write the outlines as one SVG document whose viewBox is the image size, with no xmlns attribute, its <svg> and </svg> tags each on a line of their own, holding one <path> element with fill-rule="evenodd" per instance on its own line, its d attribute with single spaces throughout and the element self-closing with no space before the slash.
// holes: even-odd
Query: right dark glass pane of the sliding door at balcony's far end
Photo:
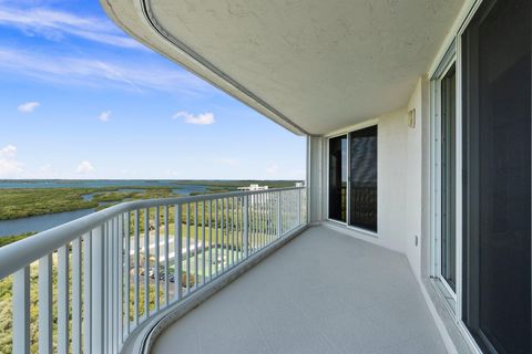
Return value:
<svg viewBox="0 0 532 354">
<path fill-rule="evenodd" d="M 349 225 L 377 231 L 377 126 L 349 134 Z"/>
</svg>

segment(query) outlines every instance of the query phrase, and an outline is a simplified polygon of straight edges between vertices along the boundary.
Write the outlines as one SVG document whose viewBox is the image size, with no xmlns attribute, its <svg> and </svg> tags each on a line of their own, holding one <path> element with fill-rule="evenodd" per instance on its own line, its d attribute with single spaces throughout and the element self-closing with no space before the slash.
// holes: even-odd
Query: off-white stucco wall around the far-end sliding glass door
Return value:
<svg viewBox="0 0 532 354">
<path fill-rule="evenodd" d="M 422 232 L 422 158 L 423 122 L 428 116 L 428 84 L 419 79 L 403 108 L 371 118 L 378 124 L 378 232 L 377 236 L 345 228 L 331 227 L 395 251 L 405 253 L 416 277 L 421 274 L 421 247 L 428 241 Z M 416 126 L 408 126 L 408 112 L 416 110 Z M 346 132 L 356 127 L 346 128 Z M 313 150 L 314 152 L 314 150 Z M 320 152 L 323 154 L 323 150 Z M 428 152 L 424 152 L 427 154 Z M 321 166 L 327 156 L 320 155 Z M 321 179 L 326 210 L 327 179 Z M 316 190 L 316 189 L 314 189 Z M 325 215 L 324 215 L 325 218 Z M 418 244 L 416 244 L 416 236 Z"/>
</svg>

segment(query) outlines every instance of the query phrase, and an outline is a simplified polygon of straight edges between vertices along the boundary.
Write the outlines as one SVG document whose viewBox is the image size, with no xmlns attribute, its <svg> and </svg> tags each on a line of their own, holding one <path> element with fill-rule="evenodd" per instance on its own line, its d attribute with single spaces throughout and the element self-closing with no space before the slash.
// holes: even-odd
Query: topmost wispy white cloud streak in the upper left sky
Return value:
<svg viewBox="0 0 532 354">
<path fill-rule="evenodd" d="M 76 37 L 114 46 L 144 49 L 105 18 L 81 17 L 47 8 L 2 6 L 0 25 L 17 28 L 28 37 L 40 35 L 51 41 Z"/>
</svg>

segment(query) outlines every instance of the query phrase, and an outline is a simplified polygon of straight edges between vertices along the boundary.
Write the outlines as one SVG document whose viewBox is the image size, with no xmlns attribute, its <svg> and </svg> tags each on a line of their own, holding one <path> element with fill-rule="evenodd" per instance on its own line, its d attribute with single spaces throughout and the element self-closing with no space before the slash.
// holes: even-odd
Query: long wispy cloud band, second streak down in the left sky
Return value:
<svg viewBox="0 0 532 354">
<path fill-rule="evenodd" d="M 170 65 L 170 64 L 168 64 Z M 80 58 L 0 46 L 0 72 L 24 75 L 58 85 L 144 88 L 191 94 L 213 90 L 201 79 L 178 67 L 135 61 Z"/>
</svg>

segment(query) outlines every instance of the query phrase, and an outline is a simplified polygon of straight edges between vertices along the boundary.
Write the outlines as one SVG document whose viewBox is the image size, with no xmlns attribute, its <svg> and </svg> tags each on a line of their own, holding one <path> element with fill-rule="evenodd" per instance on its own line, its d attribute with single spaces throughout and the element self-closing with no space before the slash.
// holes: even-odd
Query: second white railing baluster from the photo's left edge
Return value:
<svg viewBox="0 0 532 354">
<path fill-rule="evenodd" d="M 47 254 L 39 260 L 39 353 L 43 354 L 53 352 L 52 304 L 52 254 Z"/>
</svg>

